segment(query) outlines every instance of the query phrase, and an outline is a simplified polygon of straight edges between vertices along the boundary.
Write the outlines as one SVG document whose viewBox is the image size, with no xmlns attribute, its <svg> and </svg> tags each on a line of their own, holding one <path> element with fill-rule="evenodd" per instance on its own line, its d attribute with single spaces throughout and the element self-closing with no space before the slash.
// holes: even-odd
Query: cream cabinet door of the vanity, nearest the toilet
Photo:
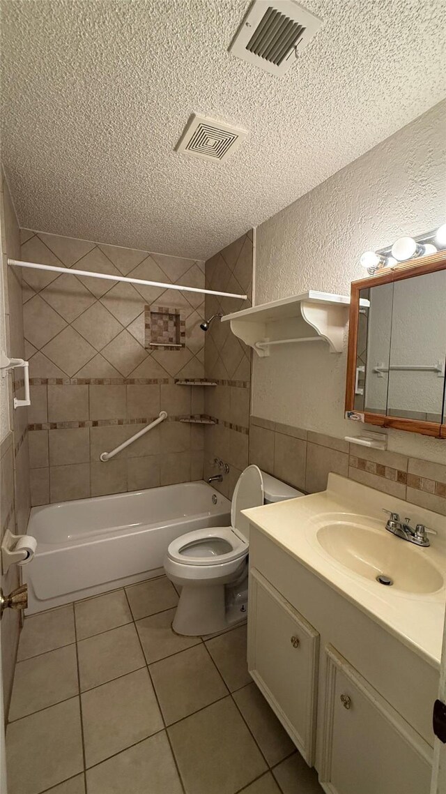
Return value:
<svg viewBox="0 0 446 794">
<path fill-rule="evenodd" d="M 319 635 L 256 569 L 250 572 L 248 669 L 306 762 L 316 727 Z"/>
</svg>

